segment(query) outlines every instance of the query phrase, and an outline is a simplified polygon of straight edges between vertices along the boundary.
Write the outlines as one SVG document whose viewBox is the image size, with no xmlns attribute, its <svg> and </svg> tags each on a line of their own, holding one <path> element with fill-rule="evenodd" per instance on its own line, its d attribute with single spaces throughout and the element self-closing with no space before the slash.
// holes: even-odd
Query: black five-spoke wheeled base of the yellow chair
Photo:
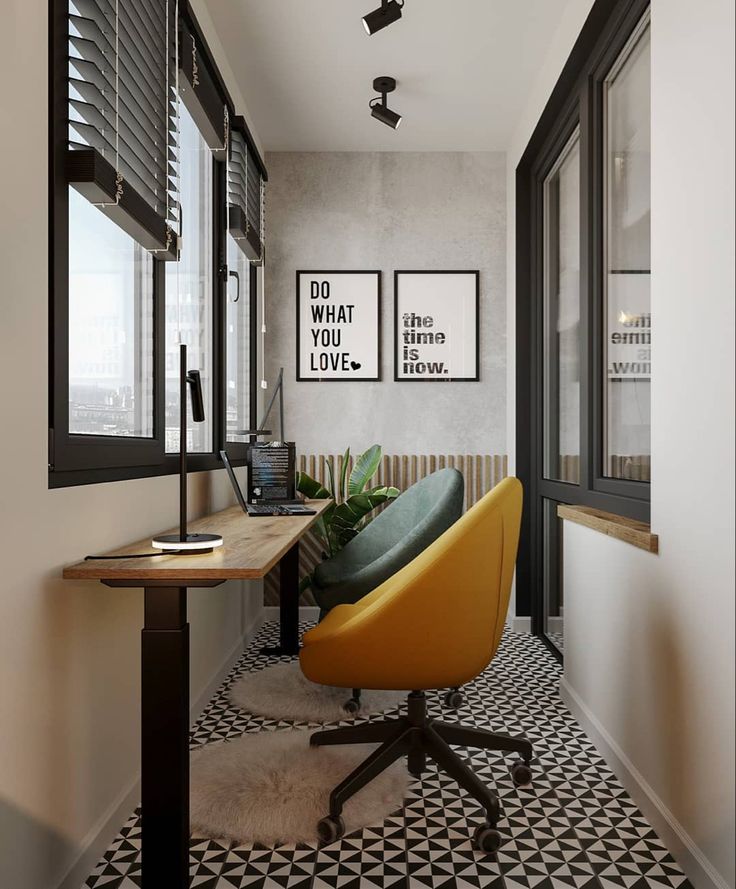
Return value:
<svg viewBox="0 0 736 889">
<path fill-rule="evenodd" d="M 345 826 L 340 816 L 350 797 L 403 756 L 407 757 L 409 772 L 415 777 L 420 777 L 426 768 L 427 757 L 433 759 L 443 772 L 481 804 L 486 821 L 476 831 L 475 843 L 485 852 L 495 852 L 501 843 L 501 835 L 496 830 L 500 816 L 498 797 L 450 745 L 517 753 L 521 759 L 511 769 L 514 783 L 523 785 L 531 781 L 532 745 L 526 738 L 427 719 L 424 692 L 415 691 L 409 695 L 407 715 L 400 719 L 316 732 L 311 736 L 310 744 L 313 747 L 380 744 L 330 794 L 329 815 L 318 825 L 323 844 L 334 842 L 344 834 Z"/>
</svg>

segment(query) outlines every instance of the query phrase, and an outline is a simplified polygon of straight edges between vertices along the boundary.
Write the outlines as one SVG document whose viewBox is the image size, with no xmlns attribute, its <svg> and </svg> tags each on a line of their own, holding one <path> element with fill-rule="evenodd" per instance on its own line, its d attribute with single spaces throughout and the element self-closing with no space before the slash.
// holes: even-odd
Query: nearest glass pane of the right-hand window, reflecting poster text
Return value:
<svg viewBox="0 0 736 889">
<path fill-rule="evenodd" d="M 649 481 L 650 60 L 643 23 L 604 84 L 604 474 Z"/>
</svg>

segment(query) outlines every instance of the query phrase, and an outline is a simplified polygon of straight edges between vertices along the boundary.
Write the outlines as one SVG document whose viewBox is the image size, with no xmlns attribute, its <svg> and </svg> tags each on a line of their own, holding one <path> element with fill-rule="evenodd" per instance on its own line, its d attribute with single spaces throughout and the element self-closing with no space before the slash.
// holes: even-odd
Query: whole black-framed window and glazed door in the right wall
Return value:
<svg viewBox="0 0 736 889">
<path fill-rule="evenodd" d="M 649 34 L 596 0 L 516 170 L 517 611 L 560 656 L 559 504 L 649 519 Z"/>
</svg>

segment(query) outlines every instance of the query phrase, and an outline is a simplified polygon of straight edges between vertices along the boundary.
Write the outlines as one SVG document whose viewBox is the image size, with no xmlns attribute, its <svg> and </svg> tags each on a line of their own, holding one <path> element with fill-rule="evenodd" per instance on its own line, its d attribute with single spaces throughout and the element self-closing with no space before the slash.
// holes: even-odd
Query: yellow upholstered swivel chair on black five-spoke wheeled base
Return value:
<svg viewBox="0 0 736 889">
<path fill-rule="evenodd" d="M 486 812 L 475 846 L 484 852 L 499 848 L 498 798 L 450 745 L 519 754 L 511 770 L 517 785 L 531 780 L 532 745 L 524 737 L 427 719 L 424 690 L 461 686 L 495 655 L 509 603 L 521 504 L 521 483 L 504 479 L 393 577 L 355 605 L 333 608 L 304 636 L 301 666 L 313 682 L 414 689 L 400 719 L 311 736 L 314 746 L 380 743 L 332 791 L 329 815 L 318 825 L 322 843 L 344 834 L 345 802 L 406 755 L 411 774 L 420 776 L 429 756 L 475 797 Z"/>
</svg>

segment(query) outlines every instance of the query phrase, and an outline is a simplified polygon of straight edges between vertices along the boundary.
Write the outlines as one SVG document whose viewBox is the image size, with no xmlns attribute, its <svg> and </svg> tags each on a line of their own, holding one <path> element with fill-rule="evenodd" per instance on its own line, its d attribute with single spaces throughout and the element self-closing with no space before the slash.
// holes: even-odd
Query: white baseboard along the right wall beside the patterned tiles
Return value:
<svg viewBox="0 0 736 889">
<path fill-rule="evenodd" d="M 603 758 L 657 831 L 695 889 L 729 889 L 727 881 L 565 679 L 560 682 L 560 697 L 590 735 Z"/>
</svg>

